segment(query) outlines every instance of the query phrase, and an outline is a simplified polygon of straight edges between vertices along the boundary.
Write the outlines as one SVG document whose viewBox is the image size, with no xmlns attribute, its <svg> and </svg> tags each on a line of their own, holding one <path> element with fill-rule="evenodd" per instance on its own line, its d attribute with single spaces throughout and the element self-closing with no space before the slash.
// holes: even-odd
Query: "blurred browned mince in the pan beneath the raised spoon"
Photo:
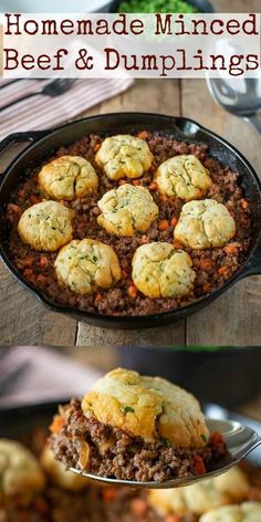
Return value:
<svg viewBox="0 0 261 522">
<path fill-rule="evenodd" d="M 22 438 L 36 457 L 45 443 L 46 430 L 36 429 Z M 248 499 L 261 501 L 261 468 L 242 464 L 251 489 Z M 147 492 L 129 488 L 90 487 L 70 492 L 48 482 L 46 490 L 29 508 L 4 503 L 0 495 L 1 522 L 198 522 L 194 513 L 170 516 L 159 515 L 147 501 Z"/>
</svg>

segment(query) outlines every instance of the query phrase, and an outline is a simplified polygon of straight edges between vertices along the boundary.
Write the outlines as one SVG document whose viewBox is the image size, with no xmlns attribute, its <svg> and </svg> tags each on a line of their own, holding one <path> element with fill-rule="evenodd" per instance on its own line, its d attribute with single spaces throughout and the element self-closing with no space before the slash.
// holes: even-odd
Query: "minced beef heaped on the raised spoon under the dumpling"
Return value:
<svg viewBox="0 0 261 522">
<path fill-rule="evenodd" d="M 121 429 L 86 418 L 80 400 L 73 399 L 65 408 L 65 424 L 58 435 L 51 436 L 51 447 L 67 468 L 82 470 L 84 441 L 91 448 L 86 469 L 101 477 L 163 482 L 195 477 L 229 460 L 223 441 L 210 440 L 203 449 L 173 448 L 167 439 L 146 442 Z"/>
</svg>

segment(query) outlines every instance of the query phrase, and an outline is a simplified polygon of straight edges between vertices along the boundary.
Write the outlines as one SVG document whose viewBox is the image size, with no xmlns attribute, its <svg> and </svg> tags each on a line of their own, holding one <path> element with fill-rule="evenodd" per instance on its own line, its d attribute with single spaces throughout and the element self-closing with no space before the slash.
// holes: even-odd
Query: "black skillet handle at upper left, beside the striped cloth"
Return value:
<svg viewBox="0 0 261 522">
<path fill-rule="evenodd" d="M 39 142 L 39 139 L 43 138 L 51 134 L 52 130 L 32 130 L 27 133 L 14 133 L 7 136 L 2 142 L 0 142 L 0 159 L 1 155 L 4 155 L 10 149 L 10 159 L 8 159 L 8 165 L 4 167 L 3 170 L 0 170 L 0 176 L 3 178 L 12 165 L 14 159 L 20 156 L 28 147 L 30 147 L 33 143 Z M 21 144 L 19 147 L 19 152 L 15 148 L 15 145 Z M 22 144 L 24 146 L 22 147 Z M 11 155 L 12 148 L 14 148 L 13 154 Z"/>
</svg>

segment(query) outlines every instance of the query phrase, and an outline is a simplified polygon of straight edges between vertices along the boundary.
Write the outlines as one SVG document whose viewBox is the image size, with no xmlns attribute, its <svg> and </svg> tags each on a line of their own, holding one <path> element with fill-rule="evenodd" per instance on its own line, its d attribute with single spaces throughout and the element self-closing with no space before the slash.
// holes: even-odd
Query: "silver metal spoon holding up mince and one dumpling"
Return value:
<svg viewBox="0 0 261 522">
<path fill-rule="evenodd" d="M 181 486 L 195 484 L 199 480 L 210 479 L 211 477 L 217 477 L 218 474 L 225 473 L 230 468 L 240 462 L 244 457 L 247 457 L 250 451 L 261 445 L 261 437 L 255 434 L 251 428 L 242 426 L 240 422 L 233 420 L 217 420 L 217 419 L 206 419 L 207 426 L 210 434 L 219 431 L 222 434 L 223 440 L 226 441 L 228 449 L 232 456 L 230 462 L 221 463 L 219 468 L 216 468 L 212 471 L 209 471 L 205 474 L 197 477 L 184 478 L 184 479 L 173 479 L 166 482 L 140 482 L 134 480 L 118 480 L 118 479 L 108 479 L 106 477 L 98 477 L 86 471 L 80 471 L 75 468 L 70 468 L 71 471 L 82 474 L 87 479 L 97 480 L 101 482 L 106 482 L 114 486 L 127 486 L 129 488 L 149 488 L 149 489 L 167 489 L 167 488 L 179 488 Z"/>
</svg>

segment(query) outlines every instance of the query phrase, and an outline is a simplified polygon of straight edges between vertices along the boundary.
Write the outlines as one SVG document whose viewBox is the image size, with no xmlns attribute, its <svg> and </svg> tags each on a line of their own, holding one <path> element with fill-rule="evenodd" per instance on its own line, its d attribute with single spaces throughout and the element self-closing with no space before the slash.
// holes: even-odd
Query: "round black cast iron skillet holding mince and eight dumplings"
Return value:
<svg viewBox="0 0 261 522">
<path fill-rule="evenodd" d="M 6 203 L 10 201 L 11 192 L 17 188 L 24 169 L 29 166 L 35 167 L 41 165 L 44 160 L 51 157 L 53 152 L 59 147 L 79 140 L 84 134 L 126 134 L 129 132 L 135 133 L 140 129 L 173 134 L 179 140 L 207 144 L 209 153 L 213 158 L 219 159 L 225 165 L 229 165 L 232 170 L 240 173 L 240 182 L 247 197 L 252 202 L 254 215 L 252 228 L 253 240 L 249 257 L 241 269 L 210 295 L 207 295 L 187 306 L 169 312 L 145 316 L 113 316 L 88 313 L 75 307 L 54 303 L 42 292 L 30 285 L 9 259 L 8 228 L 4 220 Z M 90 324 L 111 328 L 145 328 L 159 326 L 173 321 L 179 321 L 195 312 L 198 312 L 241 279 L 247 278 L 248 275 L 261 274 L 260 180 L 248 160 L 234 147 L 223 138 L 217 136 L 205 127 L 201 127 L 192 119 L 149 113 L 115 113 L 92 116 L 77 122 L 72 122 L 54 130 L 12 134 L 0 144 L 0 154 L 7 147 L 18 142 L 29 142 L 29 145 L 15 157 L 15 159 L 13 159 L 11 165 L 9 165 L 2 175 L 3 179 L 0 186 L 0 254 L 6 267 L 12 272 L 12 274 L 53 311 L 67 313 L 77 320 L 87 321 Z"/>
</svg>

